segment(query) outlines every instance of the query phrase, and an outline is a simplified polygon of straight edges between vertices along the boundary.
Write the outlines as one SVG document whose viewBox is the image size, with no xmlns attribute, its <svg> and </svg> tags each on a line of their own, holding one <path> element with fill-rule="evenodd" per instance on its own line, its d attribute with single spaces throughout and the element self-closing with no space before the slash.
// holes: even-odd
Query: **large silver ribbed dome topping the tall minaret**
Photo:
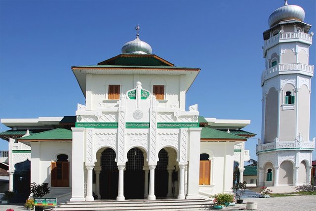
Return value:
<svg viewBox="0 0 316 211">
<path fill-rule="evenodd" d="M 298 5 L 288 5 L 287 0 L 285 0 L 284 6 L 277 8 L 269 17 L 268 24 L 273 26 L 276 23 L 283 20 L 296 19 L 303 21 L 305 18 L 305 11 L 302 7 Z"/>
</svg>

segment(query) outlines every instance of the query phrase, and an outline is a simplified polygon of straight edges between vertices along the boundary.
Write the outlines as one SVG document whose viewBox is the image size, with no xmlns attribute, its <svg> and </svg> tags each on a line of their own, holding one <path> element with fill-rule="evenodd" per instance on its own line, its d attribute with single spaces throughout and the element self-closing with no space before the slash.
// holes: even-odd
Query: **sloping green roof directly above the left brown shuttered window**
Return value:
<svg viewBox="0 0 316 211">
<path fill-rule="evenodd" d="M 33 135 L 19 138 L 19 140 L 56 140 L 56 139 L 72 139 L 73 133 L 69 129 L 57 128 Z"/>
</svg>

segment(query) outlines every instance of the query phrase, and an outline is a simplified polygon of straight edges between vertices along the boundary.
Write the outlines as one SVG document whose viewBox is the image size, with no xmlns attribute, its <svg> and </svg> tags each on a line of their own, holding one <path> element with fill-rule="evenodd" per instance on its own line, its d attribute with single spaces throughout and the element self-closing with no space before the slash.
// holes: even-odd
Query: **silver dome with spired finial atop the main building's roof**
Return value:
<svg viewBox="0 0 316 211">
<path fill-rule="evenodd" d="M 122 53 L 151 54 L 152 47 L 147 42 L 139 39 L 139 26 L 136 26 L 135 29 L 137 30 L 136 39 L 126 42 L 122 47 Z"/>
</svg>

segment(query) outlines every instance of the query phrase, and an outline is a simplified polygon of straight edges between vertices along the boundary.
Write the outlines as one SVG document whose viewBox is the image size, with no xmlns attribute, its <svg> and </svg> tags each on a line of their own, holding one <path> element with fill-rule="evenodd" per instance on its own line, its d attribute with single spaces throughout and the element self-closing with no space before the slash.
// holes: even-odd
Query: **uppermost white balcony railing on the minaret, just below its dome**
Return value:
<svg viewBox="0 0 316 211">
<path fill-rule="evenodd" d="M 269 40 L 266 40 L 263 45 L 263 56 L 266 56 L 267 50 L 281 42 L 303 42 L 312 44 L 313 35 L 304 32 L 283 32 L 278 33 Z"/>
</svg>

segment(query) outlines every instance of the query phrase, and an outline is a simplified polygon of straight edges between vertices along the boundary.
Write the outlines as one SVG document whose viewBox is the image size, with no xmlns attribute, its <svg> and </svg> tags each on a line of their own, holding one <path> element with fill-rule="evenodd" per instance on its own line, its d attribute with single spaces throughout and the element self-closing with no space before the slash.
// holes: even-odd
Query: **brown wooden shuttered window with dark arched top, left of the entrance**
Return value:
<svg viewBox="0 0 316 211">
<path fill-rule="evenodd" d="M 51 162 L 51 186 L 69 187 L 69 161 L 67 155 L 58 155 L 56 162 Z"/>
</svg>

